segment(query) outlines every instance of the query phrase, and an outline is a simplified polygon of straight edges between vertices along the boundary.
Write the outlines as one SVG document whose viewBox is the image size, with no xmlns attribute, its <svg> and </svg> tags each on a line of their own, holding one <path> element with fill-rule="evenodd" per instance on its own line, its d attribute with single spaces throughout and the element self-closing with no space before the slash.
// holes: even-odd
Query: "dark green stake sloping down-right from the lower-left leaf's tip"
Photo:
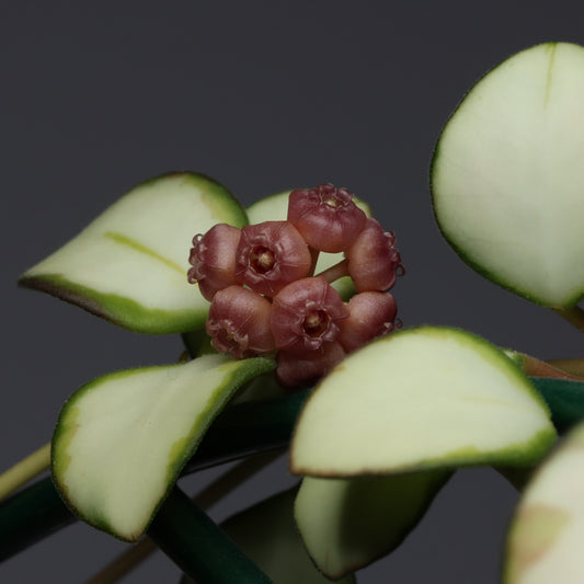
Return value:
<svg viewBox="0 0 584 584">
<path fill-rule="evenodd" d="M 160 507 L 148 535 L 196 582 L 274 584 L 176 488 Z"/>
</svg>

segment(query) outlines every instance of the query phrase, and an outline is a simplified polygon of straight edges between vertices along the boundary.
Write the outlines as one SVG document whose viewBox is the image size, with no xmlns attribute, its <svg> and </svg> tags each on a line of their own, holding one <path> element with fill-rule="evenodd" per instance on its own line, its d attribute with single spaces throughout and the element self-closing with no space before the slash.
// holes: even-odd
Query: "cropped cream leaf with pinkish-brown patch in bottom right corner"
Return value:
<svg viewBox="0 0 584 584">
<path fill-rule="evenodd" d="M 538 469 L 508 533 L 504 584 L 584 580 L 584 425 Z"/>
</svg>

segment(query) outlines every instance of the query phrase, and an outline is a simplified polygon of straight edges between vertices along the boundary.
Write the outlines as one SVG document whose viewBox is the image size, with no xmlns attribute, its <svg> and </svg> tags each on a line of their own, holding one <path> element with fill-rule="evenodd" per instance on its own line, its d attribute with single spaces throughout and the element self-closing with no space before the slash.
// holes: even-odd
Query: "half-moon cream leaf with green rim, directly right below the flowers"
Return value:
<svg viewBox="0 0 584 584">
<path fill-rule="evenodd" d="M 461 465 L 530 465 L 556 438 L 527 377 L 465 331 L 423 327 L 335 367 L 296 426 L 291 468 L 351 477 Z"/>
</svg>

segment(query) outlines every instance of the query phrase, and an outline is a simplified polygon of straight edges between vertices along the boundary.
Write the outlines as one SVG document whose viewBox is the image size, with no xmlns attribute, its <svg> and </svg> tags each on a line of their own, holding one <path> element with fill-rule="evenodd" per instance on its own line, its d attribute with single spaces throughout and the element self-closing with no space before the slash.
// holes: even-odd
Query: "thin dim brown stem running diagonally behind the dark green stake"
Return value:
<svg viewBox="0 0 584 584">
<path fill-rule="evenodd" d="M 203 509 L 211 507 L 234 488 L 273 462 L 280 454 L 280 451 L 267 453 L 242 460 L 197 493 L 193 497 L 194 502 Z M 145 537 L 130 549 L 114 558 L 85 584 L 114 584 L 157 550 L 158 546 L 149 537 Z"/>
</svg>

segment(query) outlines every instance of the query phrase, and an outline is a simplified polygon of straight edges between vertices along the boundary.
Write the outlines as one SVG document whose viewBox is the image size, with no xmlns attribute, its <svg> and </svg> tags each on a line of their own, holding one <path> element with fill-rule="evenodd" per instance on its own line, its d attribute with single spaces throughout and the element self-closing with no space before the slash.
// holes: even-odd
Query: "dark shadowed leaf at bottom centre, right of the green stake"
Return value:
<svg viewBox="0 0 584 584">
<path fill-rule="evenodd" d="M 314 568 L 296 528 L 295 495 L 296 489 L 278 493 L 233 515 L 221 527 L 275 584 L 325 584 L 330 580 Z M 353 575 L 340 581 L 354 582 Z"/>
</svg>

